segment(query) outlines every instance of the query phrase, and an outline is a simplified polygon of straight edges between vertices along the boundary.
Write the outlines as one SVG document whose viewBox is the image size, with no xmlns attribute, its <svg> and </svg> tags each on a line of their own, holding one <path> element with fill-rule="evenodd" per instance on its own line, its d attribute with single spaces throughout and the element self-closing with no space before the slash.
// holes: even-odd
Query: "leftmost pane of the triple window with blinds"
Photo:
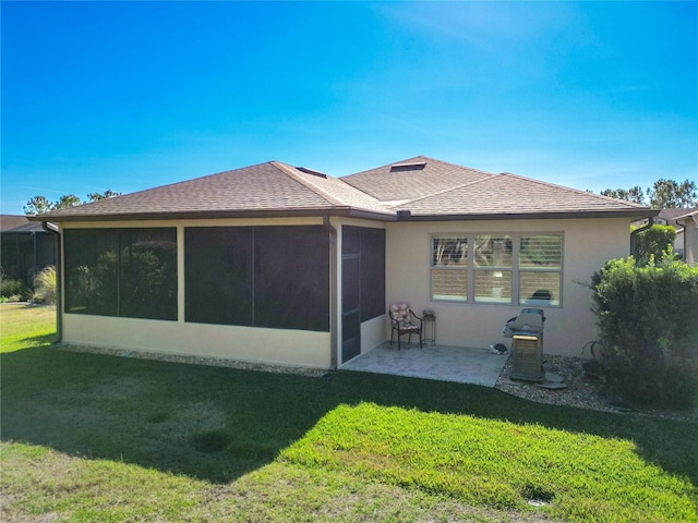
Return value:
<svg viewBox="0 0 698 523">
<path fill-rule="evenodd" d="M 432 239 L 432 300 L 468 300 L 468 238 Z"/>
</svg>

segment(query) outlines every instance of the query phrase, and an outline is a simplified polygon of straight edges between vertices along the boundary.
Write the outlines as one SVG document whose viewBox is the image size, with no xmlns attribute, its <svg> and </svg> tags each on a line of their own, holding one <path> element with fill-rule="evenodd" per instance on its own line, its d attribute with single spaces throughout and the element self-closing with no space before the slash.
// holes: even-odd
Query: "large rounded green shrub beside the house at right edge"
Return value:
<svg viewBox="0 0 698 523">
<path fill-rule="evenodd" d="M 665 253 L 645 267 L 613 259 L 593 277 L 613 382 L 638 403 L 698 403 L 698 268 Z"/>
</svg>

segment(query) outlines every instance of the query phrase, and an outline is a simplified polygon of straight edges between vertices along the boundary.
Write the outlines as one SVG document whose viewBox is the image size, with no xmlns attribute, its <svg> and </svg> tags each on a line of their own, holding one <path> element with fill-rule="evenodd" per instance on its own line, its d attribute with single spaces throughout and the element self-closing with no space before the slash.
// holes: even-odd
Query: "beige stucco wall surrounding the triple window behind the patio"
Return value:
<svg viewBox="0 0 698 523">
<path fill-rule="evenodd" d="M 436 342 L 468 348 L 498 342 L 509 346 L 510 340 L 502 337 L 502 329 L 522 306 L 432 302 L 430 235 L 562 232 L 563 305 L 545 308 L 544 351 L 570 356 L 580 356 L 585 343 L 597 339 L 591 291 L 579 282 L 588 282 L 606 260 L 627 256 L 630 244 L 627 219 L 397 222 L 386 229 L 387 304 L 407 302 L 418 314 L 433 309 Z"/>
</svg>

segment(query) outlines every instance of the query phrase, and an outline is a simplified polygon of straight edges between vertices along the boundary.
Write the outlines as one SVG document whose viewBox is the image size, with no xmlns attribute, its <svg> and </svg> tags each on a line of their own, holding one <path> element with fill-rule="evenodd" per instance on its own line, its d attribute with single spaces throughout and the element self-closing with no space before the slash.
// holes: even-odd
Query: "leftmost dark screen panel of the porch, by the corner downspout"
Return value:
<svg viewBox="0 0 698 523">
<path fill-rule="evenodd" d="M 63 247 L 65 312 L 118 316 L 119 230 L 68 229 Z"/>
</svg>

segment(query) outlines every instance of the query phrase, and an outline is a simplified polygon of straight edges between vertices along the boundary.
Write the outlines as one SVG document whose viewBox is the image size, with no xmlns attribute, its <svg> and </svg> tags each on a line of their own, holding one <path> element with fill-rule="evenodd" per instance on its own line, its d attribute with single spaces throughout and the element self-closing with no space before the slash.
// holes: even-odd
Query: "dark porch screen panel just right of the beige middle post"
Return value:
<svg viewBox="0 0 698 523">
<path fill-rule="evenodd" d="M 252 325 L 252 228 L 184 229 L 185 320 Z"/>
</svg>

